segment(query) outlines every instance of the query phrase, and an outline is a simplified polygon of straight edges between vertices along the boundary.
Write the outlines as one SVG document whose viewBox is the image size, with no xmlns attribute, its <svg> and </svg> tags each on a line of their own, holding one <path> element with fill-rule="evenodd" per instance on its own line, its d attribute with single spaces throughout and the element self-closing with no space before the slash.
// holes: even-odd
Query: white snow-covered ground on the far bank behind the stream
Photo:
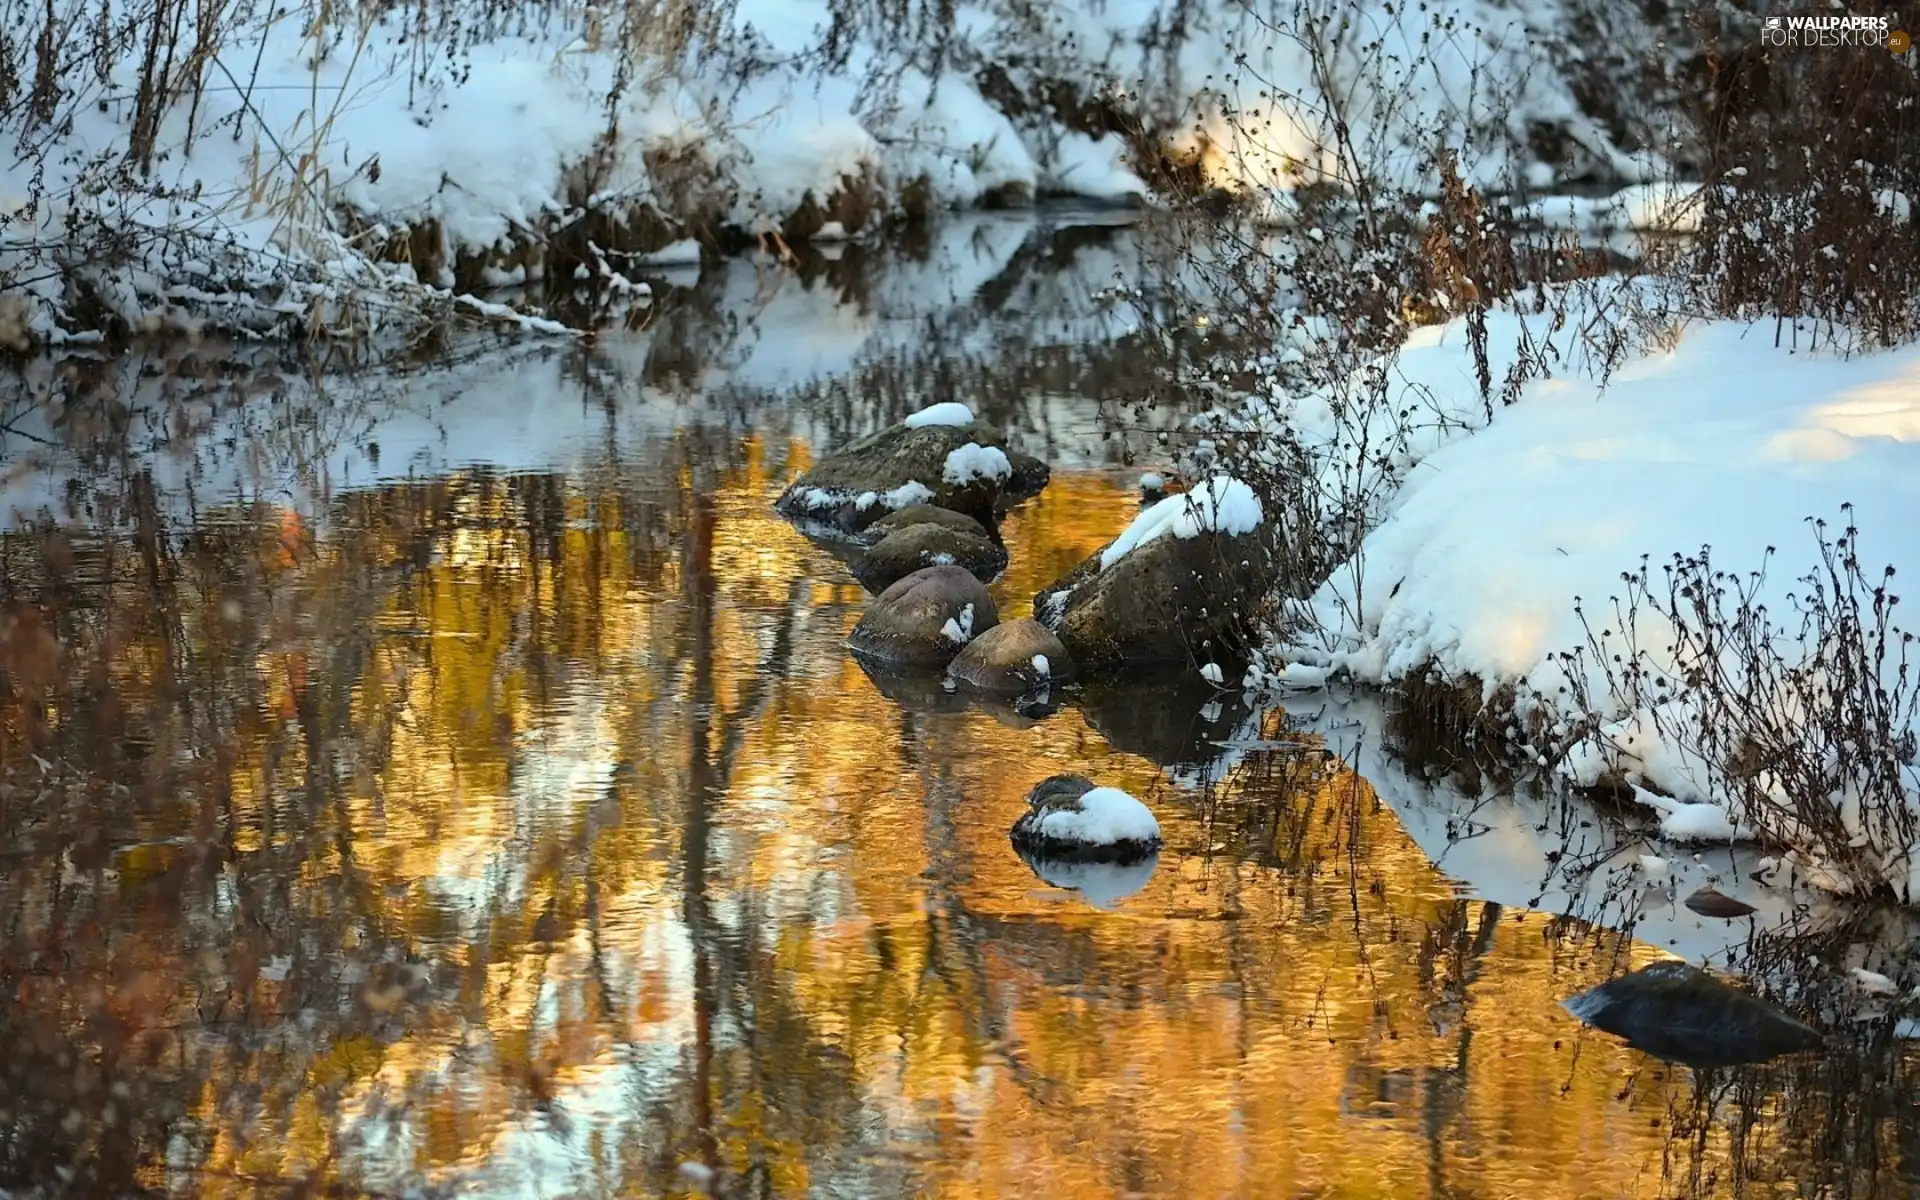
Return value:
<svg viewBox="0 0 1920 1200">
<path fill-rule="evenodd" d="M 1286 190 L 1327 173 L 1331 150 L 1302 38 L 1279 33 L 1298 33 L 1298 17 L 1283 10 L 1198 10 L 1169 52 L 1156 48 L 1164 13 L 1150 0 L 973 0 L 954 15 L 937 81 L 910 63 L 912 46 L 874 29 L 856 33 L 845 63 L 820 65 L 808 52 L 831 25 L 824 0 L 743 0 L 724 31 L 689 50 L 697 58 L 636 61 L 632 75 L 593 6 L 538 6 L 516 19 L 490 10 L 424 36 L 413 10 L 361 27 L 223 10 L 213 52 L 196 60 L 202 86 L 182 81 L 144 177 L 121 171 L 144 35 L 125 38 L 104 69 L 71 63 L 58 119 L 8 138 L 0 278 L 33 305 L 4 313 L 0 332 L 84 326 L 71 309 L 75 280 L 134 328 L 209 315 L 376 323 L 386 307 L 419 303 L 407 292 L 415 275 L 447 288 L 465 261 L 492 286 L 538 276 L 545 259 L 528 248 L 588 213 L 616 227 L 664 217 L 660 244 L 634 250 L 684 259 L 682 221 L 826 240 L 858 234 L 910 194 L 933 207 L 1043 194 L 1142 200 L 1117 136 L 1069 129 L 1033 104 L 1056 86 L 1146 117 L 1213 182 Z M 1519 12 L 1448 0 L 1415 13 L 1369 0 L 1346 13 L 1359 17 L 1356 33 L 1329 61 L 1352 106 L 1356 152 L 1413 180 L 1444 136 L 1473 148 L 1476 177 L 1540 188 L 1553 171 L 1513 148 L 1548 127 L 1615 177 L 1657 171 L 1580 111 L 1542 50 L 1563 25 L 1555 10 L 1555 0 Z M 104 12 L 108 25 L 138 21 L 131 8 Z M 69 33 L 94 19 L 77 15 Z M 1428 40 L 1434 29 L 1446 36 Z M 854 194 L 876 204 L 841 219 L 833 200 Z M 828 219 L 791 227 L 808 200 Z M 407 234 L 409 265 L 374 269 L 372 248 Z M 111 267 L 83 253 L 102 238 L 125 252 L 104 255 Z M 367 294 L 384 301 L 355 309 Z"/>
</svg>

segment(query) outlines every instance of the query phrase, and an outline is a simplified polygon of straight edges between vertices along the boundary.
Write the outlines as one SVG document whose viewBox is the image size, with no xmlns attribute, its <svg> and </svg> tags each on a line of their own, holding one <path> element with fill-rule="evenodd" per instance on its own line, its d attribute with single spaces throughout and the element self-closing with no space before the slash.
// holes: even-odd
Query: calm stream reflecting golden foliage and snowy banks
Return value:
<svg viewBox="0 0 1920 1200">
<path fill-rule="evenodd" d="M 1198 676 L 885 695 L 772 499 L 962 397 L 1052 465 L 1002 616 L 1139 511 L 1102 300 L 983 215 L 628 332 L 313 376 L 40 359 L 0 403 L 0 1188 L 77 1196 L 1903 1196 L 1907 1043 L 1695 1071 L 1563 1000 L 1728 966 L 1751 856 Z M 1056 772 L 1158 814 L 1041 877 Z M 1690 912 L 1740 895 L 1738 922 Z M 1820 902 L 1812 902 L 1820 908 Z M 1812 918 L 1820 918 L 1812 912 Z M 1834 918 L 1839 920 L 1839 918 Z M 1864 1037 L 1864 1035 L 1862 1035 Z"/>
</svg>

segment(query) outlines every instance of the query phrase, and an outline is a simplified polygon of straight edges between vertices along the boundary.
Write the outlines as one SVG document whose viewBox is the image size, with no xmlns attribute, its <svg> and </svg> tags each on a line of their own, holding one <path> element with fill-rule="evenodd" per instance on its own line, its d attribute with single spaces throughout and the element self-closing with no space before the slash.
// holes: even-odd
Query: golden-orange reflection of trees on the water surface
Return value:
<svg viewBox="0 0 1920 1200">
<path fill-rule="evenodd" d="M 1686 1073 L 1559 1008 L 1653 950 L 1459 899 L 1342 770 L 1204 795 L 1075 708 L 902 710 L 841 651 L 862 591 L 768 507 L 803 455 L 349 495 L 240 534 L 225 616 L 188 566 L 188 645 L 238 639 L 217 678 L 257 687 L 96 910 L 138 960 L 96 975 L 148 979 L 129 1020 L 190 1092 L 146 1185 L 1667 1194 Z M 1006 526 L 1002 614 L 1133 511 L 1056 474 Z M 161 664 L 129 637 L 115 670 Z M 1165 826 L 1108 908 L 1006 841 L 1062 770 Z"/>
</svg>

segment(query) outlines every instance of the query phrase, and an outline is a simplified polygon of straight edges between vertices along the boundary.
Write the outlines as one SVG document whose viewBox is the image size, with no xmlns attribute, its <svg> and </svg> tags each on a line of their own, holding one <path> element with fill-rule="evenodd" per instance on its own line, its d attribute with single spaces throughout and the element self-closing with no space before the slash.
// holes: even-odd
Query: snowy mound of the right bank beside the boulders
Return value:
<svg viewBox="0 0 1920 1200">
<path fill-rule="evenodd" d="M 1538 317 L 1496 315 L 1492 344 L 1511 348 L 1528 321 Z M 1496 361 L 1494 378 L 1501 369 Z M 1836 359 L 1776 348 L 1770 324 L 1709 323 L 1630 361 L 1605 388 L 1582 371 L 1536 378 L 1488 420 L 1455 323 L 1421 330 L 1394 365 L 1384 407 L 1415 405 L 1430 419 L 1375 457 L 1354 451 L 1352 424 L 1336 428 L 1325 397 L 1265 415 L 1315 445 L 1323 482 L 1352 488 L 1365 476 L 1373 503 L 1359 553 L 1302 612 L 1309 632 L 1279 651 L 1288 666 L 1277 680 L 1476 685 L 1482 703 L 1517 718 L 1511 735 L 1538 762 L 1586 785 L 1624 781 L 1663 814 L 1668 837 L 1759 837 L 1836 889 L 1878 877 L 1920 900 L 1910 756 L 1887 768 L 1899 783 L 1882 780 L 1880 799 L 1864 803 L 1866 768 L 1855 760 L 1872 756 L 1847 749 L 1843 733 L 1832 733 L 1824 768 L 1784 766 L 1807 747 L 1828 753 L 1822 708 L 1851 703 L 1828 662 L 1834 647 L 1803 636 L 1812 593 L 1799 576 L 1820 563 L 1807 520 L 1830 522 L 1828 540 L 1845 524 L 1860 530 L 1843 553 L 1857 549 L 1868 584 L 1880 564 L 1920 570 L 1920 348 Z M 1720 595 L 1730 628 L 1745 622 L 1745 647 L 1713 622 L 1695 628 L 1686 593 L 1667 589 L 1661 564 L 1693 557 L 1676 564 L 1684 578 L 1703 547 L 1707 578 L 1730 572 L 1705 591 Z M 1770 555 L 1772 568 L 1749 576 Z M 1636 595 L 1622 572 L 1644 561 Z M 1736 588 L 1747 589 L 1745 616 Z M 1889 653 L 1862 670 L 1880 672 L 1891 697 L 1884 720 L 1895 724 L 1868 732 L 1897 747 L 1912 735 L 1912 705 L 1901 701 L 1912 685 L 1897 641 Z M 1736 716 L 1715 708 L 1728 697 Z M 1774 737 L 1786 730 L 1799 733 Z M 1740 737 L 1763 745 L 1741 749 Z M 1749 753 L 1757 764 L 1732 762 Z M 1897 749 L 1876 753 L 1885 766 Z"/>
</svg>

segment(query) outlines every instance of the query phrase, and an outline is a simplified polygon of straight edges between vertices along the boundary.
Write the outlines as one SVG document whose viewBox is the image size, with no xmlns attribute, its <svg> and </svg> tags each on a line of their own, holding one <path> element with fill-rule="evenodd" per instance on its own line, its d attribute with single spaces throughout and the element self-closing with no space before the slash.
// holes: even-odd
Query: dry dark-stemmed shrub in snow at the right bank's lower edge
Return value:
<svg viewBox="0 0 1920 1200">
<path fill-rule="evenodd" d="M 1668 812 L 1724 812 L 1828 887 L 1916 902 L 1920 662 L 1895 570 L 1868 574 L 1843 518 L 1837 536 L 1811 522 L 1818 566 L 1786 612 L 1766 605 L 1766 566 L 1741 576 L 1711 547 L 1624 572 L 1611 620 L 1588 618 L 1588 645 L 1563 655 L 1588 712 L 1569 760 L 1582 783 L 1615 776 L 1659 787 L 1638 795 Z"/>
</svg>

